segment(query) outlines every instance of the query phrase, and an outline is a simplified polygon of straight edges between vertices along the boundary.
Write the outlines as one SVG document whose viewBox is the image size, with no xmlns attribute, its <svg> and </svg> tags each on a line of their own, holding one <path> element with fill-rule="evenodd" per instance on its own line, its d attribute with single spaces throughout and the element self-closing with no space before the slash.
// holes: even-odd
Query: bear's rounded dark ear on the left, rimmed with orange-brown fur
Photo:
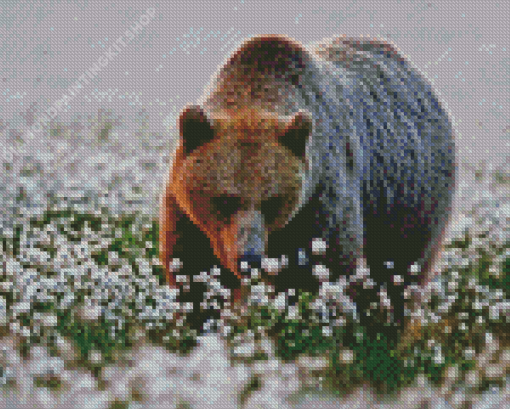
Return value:
<svg viewBox="0 0 510 409">
<path fill-rule="evenodd" d="M 183 109 L 179 117 L 179 129 L 186 156 L 214 138 L 213 127 L 198 105 L 188 105 Z"/>
</svg>

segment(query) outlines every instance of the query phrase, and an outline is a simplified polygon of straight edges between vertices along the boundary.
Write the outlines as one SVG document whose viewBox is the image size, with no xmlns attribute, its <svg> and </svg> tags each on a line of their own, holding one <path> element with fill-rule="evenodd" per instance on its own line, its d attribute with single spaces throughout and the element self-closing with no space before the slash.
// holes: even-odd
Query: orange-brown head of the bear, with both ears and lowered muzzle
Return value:
<svg viewBox="0 0 510 409">
<path fill-rule="evenodd" d="M 222 264 L 242 278 L 242 263 L 259 267 L 268 234 L 302 204 L 312 117 L 253 108 L 206 113 L 191 105 L 179 128 L 173 194 Z"/>
</svg>

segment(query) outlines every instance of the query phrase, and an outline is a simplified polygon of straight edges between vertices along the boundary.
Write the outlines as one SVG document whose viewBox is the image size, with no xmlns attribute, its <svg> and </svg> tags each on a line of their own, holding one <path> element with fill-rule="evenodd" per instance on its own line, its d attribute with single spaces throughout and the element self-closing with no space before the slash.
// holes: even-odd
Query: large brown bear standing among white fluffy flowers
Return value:
<svg viewBox="0 0 510 409">
<path fill-rule="evenodd" d="M 364 258 L 377 285 L 350 289 L 361 321 L 385 287 L 402 324 L 404 290 L 425 283 L 440 248 L 454 146 L 448 114 L 394 46 L 254 37 L 182 111 L 179 130 L 160 214 L 171 286 L 176 273 L 193 282 L 218 265 L 236 298 L 254 267 L 277 291 L 317 292 L 317 266 L 336 281 Z M 276 275 L 268 257 L 285 260 Z"/>
</svg>

